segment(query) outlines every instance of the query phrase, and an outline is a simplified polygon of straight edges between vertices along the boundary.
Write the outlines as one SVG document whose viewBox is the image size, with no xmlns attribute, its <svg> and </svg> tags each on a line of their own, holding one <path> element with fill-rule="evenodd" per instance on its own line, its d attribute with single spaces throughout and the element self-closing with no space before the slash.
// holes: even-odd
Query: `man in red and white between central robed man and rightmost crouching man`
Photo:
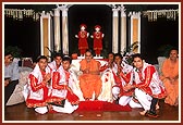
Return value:
<svg viewBox="0 0 183 125">
<path fill-rule="evenodd" d="M 133 85 L 133 66 L 122 61 L 121 53 L 114 54 L 115 66 L 113 67 L 113 76 L 115 85 L 112 88 L 112 93 L 115 103 L 120 105 L 126 105 L 132 98 L 134 89 L 125 90 L 125 87 L 130 84 Z"/>
</svg>

